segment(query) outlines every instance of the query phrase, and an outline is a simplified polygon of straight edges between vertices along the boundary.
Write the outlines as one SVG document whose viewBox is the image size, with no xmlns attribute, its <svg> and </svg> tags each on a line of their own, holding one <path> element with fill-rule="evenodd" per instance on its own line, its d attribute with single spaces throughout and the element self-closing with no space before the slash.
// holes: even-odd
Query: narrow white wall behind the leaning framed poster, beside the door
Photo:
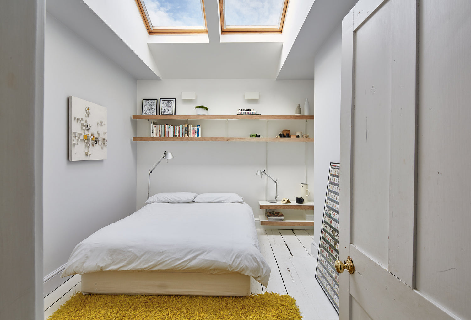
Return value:
<svg viewBox="0 0 471 320">
<path fill-rule="evenodd" d="M 329 164 L 340 161 L 341 23 L 315 58 L 314 241 L 319 245 Z M 342 166 L 340 166 L 340 172 Z M 340 173 L 341 174 L 341 173 Z"/>
</svg>

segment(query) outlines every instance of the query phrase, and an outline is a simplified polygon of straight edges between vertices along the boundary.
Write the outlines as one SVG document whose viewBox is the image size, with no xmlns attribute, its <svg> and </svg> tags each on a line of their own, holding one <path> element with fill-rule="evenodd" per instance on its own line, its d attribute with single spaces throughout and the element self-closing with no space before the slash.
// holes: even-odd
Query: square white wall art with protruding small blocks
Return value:
<svg viewBox="0 0 471 320">
<path fill-rule="evenodd" d="M 69 160 L 106 159 L 106 107 L 69 97 Z"/>
</svg>

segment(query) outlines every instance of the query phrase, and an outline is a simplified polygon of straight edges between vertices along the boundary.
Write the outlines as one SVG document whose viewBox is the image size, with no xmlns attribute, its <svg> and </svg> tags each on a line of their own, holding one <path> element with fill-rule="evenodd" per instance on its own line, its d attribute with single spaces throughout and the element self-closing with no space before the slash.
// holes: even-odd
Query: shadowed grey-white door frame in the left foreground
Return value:
<svg viewBox="0 0 471 320">
<path fill-rule="evenodd" d="M 44 0 L 0 10 L 0 318 L 42 315 Z"/>
</svg>

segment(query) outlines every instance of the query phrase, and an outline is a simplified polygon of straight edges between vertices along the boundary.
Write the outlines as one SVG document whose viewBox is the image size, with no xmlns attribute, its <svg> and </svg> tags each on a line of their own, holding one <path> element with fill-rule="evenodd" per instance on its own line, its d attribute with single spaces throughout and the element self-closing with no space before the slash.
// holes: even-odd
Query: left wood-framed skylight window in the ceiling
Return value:
<svg viewBox="0 0 471 320">
<path fill-rule="evenodd" d="M 149 33 L 206 32 L 203 0 L 137 0 Z"/>
</svg>

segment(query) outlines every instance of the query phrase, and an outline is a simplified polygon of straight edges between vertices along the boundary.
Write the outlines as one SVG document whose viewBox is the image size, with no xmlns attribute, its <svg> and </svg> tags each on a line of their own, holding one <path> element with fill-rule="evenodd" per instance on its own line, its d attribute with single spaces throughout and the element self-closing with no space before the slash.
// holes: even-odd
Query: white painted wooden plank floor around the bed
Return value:
<svg viewBox="0 0 471 320">
<path fill-rule="evenodd" d="M 311 255 L 312 230 L 257 229 L 260 250 L 271 268 L 268 287 L 252 279 L 252 293 L 288 294 L 296 299 L 304 320 L 338 320 L 339 316 L 315 278 L 317 257 Z M 74 275 L 44 298 L 47 319 L 70 296 L 81 291 Z"/>
</svg>

